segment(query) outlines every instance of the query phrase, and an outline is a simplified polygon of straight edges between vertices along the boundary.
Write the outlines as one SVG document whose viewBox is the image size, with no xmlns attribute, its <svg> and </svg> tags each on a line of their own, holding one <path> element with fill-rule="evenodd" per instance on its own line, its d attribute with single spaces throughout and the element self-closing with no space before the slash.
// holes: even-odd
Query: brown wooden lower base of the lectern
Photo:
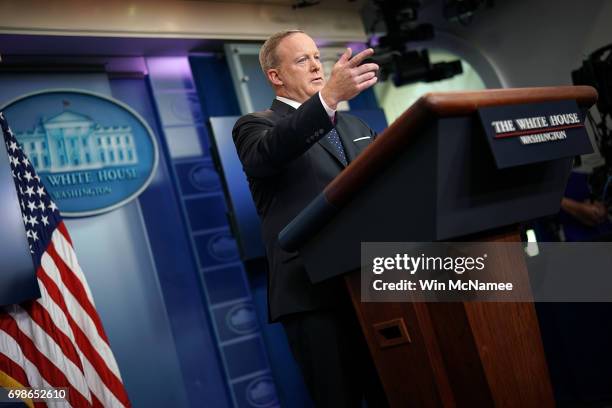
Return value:
<svg viewBox="0 0 612 408">
<path fill-rule="evenodd" d="M 522 258 L 507 259 L 502 273 L 528 278 Z M 533 303 L 362 303 L 359 271 L 345 282 L 392 407 L 555 406 Z"/>
</svg>

